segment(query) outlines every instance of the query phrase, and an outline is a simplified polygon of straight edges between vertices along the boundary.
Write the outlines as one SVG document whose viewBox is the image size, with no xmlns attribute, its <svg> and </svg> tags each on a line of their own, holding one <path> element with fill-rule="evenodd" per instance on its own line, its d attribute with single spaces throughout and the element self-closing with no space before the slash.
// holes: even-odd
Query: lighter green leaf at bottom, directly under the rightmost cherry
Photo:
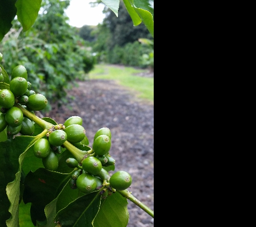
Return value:
<svg viewBox="0 0 256 227">
<path fill-rule="evenodd" d="M 129 221 L 127 198 L 124 198 L 119 193 L 113 193 L 103 201 L 93 221 L 93 226 L 126 227 Z"/>
</svg>

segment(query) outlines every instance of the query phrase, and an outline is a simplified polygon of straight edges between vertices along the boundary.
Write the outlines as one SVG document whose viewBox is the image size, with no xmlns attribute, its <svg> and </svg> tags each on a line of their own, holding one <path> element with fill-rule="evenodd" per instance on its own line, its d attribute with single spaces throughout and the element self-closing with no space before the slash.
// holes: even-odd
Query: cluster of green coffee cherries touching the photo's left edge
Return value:
<svg viewBox="0 0 256 227">
<path fill-rule="evenodd" d="M 2 72 L 1 67 L 0 69 Z M 4 80 L 2 73 L 0 80 Z M 17 104 L 32 113 L 43 110 L 47 105 L 44 95 L 31 90 L 31 83 L 27 81 L 27 70 L 22 65 L 12 69 L 9 86 L 0 89 L 0 132 L 6 128 L 8 138 L 13 138 L 18 133 L 24 136 L 34 133 L 34 122 L 23 115 Z"/>
</svg>

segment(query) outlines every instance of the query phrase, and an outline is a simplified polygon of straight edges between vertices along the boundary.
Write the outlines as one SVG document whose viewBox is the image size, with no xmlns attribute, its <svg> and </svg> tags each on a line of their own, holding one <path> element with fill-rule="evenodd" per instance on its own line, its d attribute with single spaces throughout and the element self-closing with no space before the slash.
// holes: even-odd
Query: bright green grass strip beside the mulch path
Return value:
<svg viewBox="0 0 256 227">
<path fill-rule="evenodd" d="M 133 67 L 120 67 L 114 65 L 95 65 L 89 72 L 91 80 L 115 80 L 121 86 L 128 88 L 139 98 L 154 101 L 154 78 L 141 77 L 134 74 L 147 72 L 146 69 L 135 69 Z"/>
</svg>

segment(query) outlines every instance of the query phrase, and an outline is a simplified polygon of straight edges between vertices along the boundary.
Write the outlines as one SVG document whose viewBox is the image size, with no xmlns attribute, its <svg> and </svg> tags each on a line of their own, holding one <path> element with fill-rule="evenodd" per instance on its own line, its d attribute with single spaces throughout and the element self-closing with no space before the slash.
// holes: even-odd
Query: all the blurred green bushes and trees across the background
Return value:
<svg viewBox="0 0 256 227">
<path fill-rule="evenodd" d="M 75 81 L 86 80 L 95 64 L 154 69 L 154 40 L 144 24 L 133 26 L 122 1 L 119 17 L 106 6 L 102 24 L 81 28 L 67 23 L 69 4 L 70 0 L 43 0 L 31 29 L 23 32 L 15 19 L 0 42 L 2 66 L 9 76 L 15 66 L 25 66 L 31 89 L 49 100 L 44 111 L 51 110 L 51 103 L 67 103 L 66 94 L 77 86 Z"/>
</svg>

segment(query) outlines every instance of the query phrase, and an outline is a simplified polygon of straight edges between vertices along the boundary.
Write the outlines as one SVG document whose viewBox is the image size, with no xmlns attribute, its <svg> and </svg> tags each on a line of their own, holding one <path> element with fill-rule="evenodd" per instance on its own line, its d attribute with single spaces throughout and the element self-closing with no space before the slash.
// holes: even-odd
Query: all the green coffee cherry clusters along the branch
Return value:
<svg viewBox="0 0 256 227">
<path fill-rule="evenodd" d="M 2 58 L 3 55 L 0 53 L 0 63 Z M 0 84 L 7 84 L 6 73 L 3 75 L 1 66 L 0 69 Z M 18 133 L 31 136 L 34 133 L 34 122 L 24 116 L 22 108 L 19 107 L 34 114 L 34 111 L 43 110 L 46 105 L 45 96 L 31 90 L 26 68 L 22 65 L 16 66 L 12 70 L 9 86 L 0 90 L 0 132 L 6 128 L 10 139 Z M 46 169 L 57 171 L 58 154 L 65 151 L 65 142 L 68 141 L 72 146 L 67 150 L 71 152 L 75 148 L 73 152 L 80 153 L 77 157 L 82 155 L 82 159 L 66 159 L 67 166 L 73 169 L 70 187 L 84 194 L 101 189 L 100 193 L 106 197 L 109 191 L 112 193 L 115 190 L 125 190 L 132 184 L 132 177 L 126 171 L 117 171 L 112 176 L 109 175 L 109 171 L 114 170 L 115 165 L 115 159 L 109 154 L 111 139 L 108 127 L 102 127 L 94 135 L 92 148 L 89 147 L 82 118 L 71 116 L 63 124 L 53 125 L 44 137 L 36 140 L 33 144 L 33 153 L 42 160 Z"/>
</svg>

